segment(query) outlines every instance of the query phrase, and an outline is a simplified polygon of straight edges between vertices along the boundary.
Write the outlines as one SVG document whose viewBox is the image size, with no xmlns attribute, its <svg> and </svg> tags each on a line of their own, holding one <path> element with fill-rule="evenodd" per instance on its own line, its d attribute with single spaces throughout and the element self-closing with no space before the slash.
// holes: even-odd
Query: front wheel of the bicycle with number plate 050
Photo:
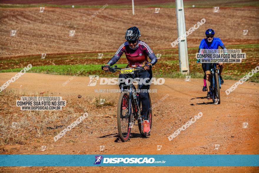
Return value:
<svg viewBox="0 0 259 173">
<path fill-rule="evenodd" d="M 132 121 L 132 113 L 128 114 L 129 95 L 126 92 L 122 92 L 119 96 L 118 109 L 117 109 L 117 125 L 119 138 L 122 142 L 129 140 L 131 131 L 130 123 Z"/>
</svg>

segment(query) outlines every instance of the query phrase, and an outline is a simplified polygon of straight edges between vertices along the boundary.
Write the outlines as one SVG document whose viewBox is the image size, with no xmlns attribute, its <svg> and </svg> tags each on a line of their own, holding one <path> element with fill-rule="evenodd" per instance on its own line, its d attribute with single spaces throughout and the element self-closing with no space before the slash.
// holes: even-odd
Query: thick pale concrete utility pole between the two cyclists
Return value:
<svg viewBox="0 0 259 173">
<path fill-rule="evenodd" d="M 183 0 L 175 0 L 178 37 L 185 34 Z M 186 37 L 178 44 L 179 66 L 182 74 L 189 74 L 188 50 Z"/>
</svg>

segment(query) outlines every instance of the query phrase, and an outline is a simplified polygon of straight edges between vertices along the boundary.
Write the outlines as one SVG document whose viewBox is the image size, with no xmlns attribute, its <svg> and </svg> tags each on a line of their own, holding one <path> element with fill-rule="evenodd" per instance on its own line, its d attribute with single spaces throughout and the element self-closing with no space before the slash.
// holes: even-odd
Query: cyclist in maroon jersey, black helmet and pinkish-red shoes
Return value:
<svg viewBox="0 0 259 173">
<path fill-rule="evenodd" d="M 134 74 L 120 74 L 119 78 L 148 78 L 148 80 L 144 81 L 143 83 L 149 83 L 148 85 L 144 85 L 143 83 L 139 84 L 139 89 L 141 90 L 149 90 L 150 88 L 150 80 L 152 79 L 152 70 L 150 67 L 155 65 L 157 62 L 157 57 L 155 53 L 151 50 L 151 48 L 147 45 L 147 43 L 142 42 L 139 40 L 140 37 L 140 30 L 137 27 L 131 27 L 127 29 L 125 33 L 125 39 L 127 40 L 124 42 L 115 55 L 109 60 L 109 62 L 104 66 L 103 70 L 109 70 L 109 67 L 114 65 L 119 58 L 125 53 L 126 58 L 128 60 L 127 67 L 143 67 L 146 71 L 142 72 L 134 72 Z M 151 62 L 148 62 L 147 57 L 150 58 Z M 121 84 L 119 85 L 119 87 Z M 149 109 L 150 109 L 150 101 L 148 92 L 140 92 L 140 100 L 142 104 L 142 112 L 141 115 L 144 117 L 143 121 L 143 133 L 149 134 L 150 132 L 150 122 L 148 119 Z"/>
</svg>

